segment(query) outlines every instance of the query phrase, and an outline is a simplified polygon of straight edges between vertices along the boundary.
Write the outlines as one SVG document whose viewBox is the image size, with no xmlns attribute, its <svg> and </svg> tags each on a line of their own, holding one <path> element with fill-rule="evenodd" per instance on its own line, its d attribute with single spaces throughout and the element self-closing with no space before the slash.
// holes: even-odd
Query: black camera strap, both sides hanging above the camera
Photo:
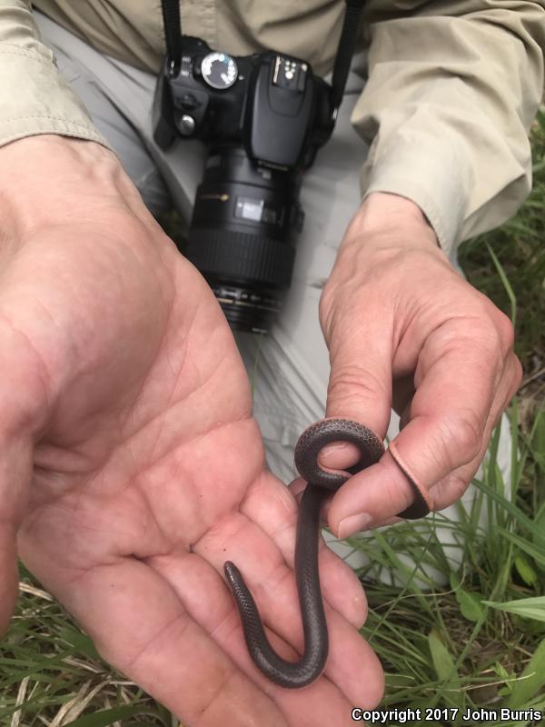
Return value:
<svg viewBox="0 0 545 727">
<path fill-rule="evenodd" d="M 352 55 L 358 39 L 358 28 L 365 0 L 345 0 L 346 9 L 342 21 L 341 38 L 333 66 L 331 101 L 334 113 L 341 105 L 344 86 L 350 71 Z M 179 0 L 161 0 L 163 6 L 164 39 L 166 53 L 172 71 L 182 58 L 182 26 Z"/>
</svg>

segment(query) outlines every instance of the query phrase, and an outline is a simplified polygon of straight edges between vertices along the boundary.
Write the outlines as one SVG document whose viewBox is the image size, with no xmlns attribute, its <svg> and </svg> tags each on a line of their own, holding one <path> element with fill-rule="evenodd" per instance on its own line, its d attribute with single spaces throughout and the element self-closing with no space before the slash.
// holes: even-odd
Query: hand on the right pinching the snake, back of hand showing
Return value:
<svg viewBox="0 0 545 727">
<path fill-rule="evenodd" d="M 509 319 L 464 281 L 420 209 L 371 194 L 342 241 L 320 305 L 330 352 L 327 416 L 386 433 L 401 414 L 396 459 L 428 490 L 433 510 L 457 501 L 477 472 L 500 414 L 520 385 Z M 355 463 L 353 445 L 321 463 Z M 333 533 L 395 522 L 414 493 L 390 453 L 329 504 Z"/>
</svg>

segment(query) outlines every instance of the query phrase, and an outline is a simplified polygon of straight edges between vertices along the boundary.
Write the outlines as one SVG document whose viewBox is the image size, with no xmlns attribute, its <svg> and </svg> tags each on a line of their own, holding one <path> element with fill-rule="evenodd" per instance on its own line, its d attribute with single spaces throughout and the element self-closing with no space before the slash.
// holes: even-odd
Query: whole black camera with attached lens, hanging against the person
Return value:
<svg viewBox="0 0 545 727">
<path fill-rule="evenodd" d="M 346 25 L 345 16 L 343 34 Z M 181 35 L 180 53 L 165 59 L 154 140 L 163 149 L 180 138 L 208 145 L 181 251 L 234 330 L 268 333 L 290 287 L 304 218 L 302 174 L 332 134 L 355 31 L 350 35 L 336 94 L 306 61 L 284 53 L 232 56 Z"/>
</svg>

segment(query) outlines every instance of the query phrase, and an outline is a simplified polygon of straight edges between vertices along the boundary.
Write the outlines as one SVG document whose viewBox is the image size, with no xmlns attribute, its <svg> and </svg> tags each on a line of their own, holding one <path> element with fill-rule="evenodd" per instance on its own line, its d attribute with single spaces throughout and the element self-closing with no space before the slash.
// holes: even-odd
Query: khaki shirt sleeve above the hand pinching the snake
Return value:
<svg viewBox="0 0 545 727">
<path fill-rule="evenodd" d="M 369 80 L 352 124 L 370 144 L 363 197 L 411 199 L 452 254 L 508 219 L 530 192 L 545 0 L 418 5 L 370 8 Z"/>
</svg>

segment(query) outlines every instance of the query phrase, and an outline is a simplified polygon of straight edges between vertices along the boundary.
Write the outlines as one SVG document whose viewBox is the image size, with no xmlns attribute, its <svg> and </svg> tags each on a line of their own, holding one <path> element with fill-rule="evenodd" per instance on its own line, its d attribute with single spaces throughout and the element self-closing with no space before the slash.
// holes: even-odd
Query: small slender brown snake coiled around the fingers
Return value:
<svg viewBox="0 0 545 727">
<path fill-rule="evenodd" d="M 360 451 L 360 459 L 343 473 L 323 470 L 318 455 L 326 444 L 349 442 Z M 350 476 L 377 463 L 384 447 L 371 429 L 350 419 L 327 418 L 313 423 L 304 430 L 295 445 L 295 466 L 307 481 L 302 494 L 295 540 L 295 580 L 301 608 L 304 651 L 296 662 L 282 658 L 272 648 L 263 628 L 259 611 L 242 573 L 231 561 L 224 563 L 226 581 L 233 593 L 243 625 L 244 640 L 253 663 L 272 682 L 286 689 L 299 689 L 317 679 L 323 672 L 329 653 L 327 621 L 323 608 L 318 549 L 320 539 L 320 511 L 325 499 L 336 492 Z M 401 464 L 398 463 L 401 467 Z M 421 488 L 412 482 L 416 501 L 401 517 L 421 517 L 429 512 Z"/>
</svg>

